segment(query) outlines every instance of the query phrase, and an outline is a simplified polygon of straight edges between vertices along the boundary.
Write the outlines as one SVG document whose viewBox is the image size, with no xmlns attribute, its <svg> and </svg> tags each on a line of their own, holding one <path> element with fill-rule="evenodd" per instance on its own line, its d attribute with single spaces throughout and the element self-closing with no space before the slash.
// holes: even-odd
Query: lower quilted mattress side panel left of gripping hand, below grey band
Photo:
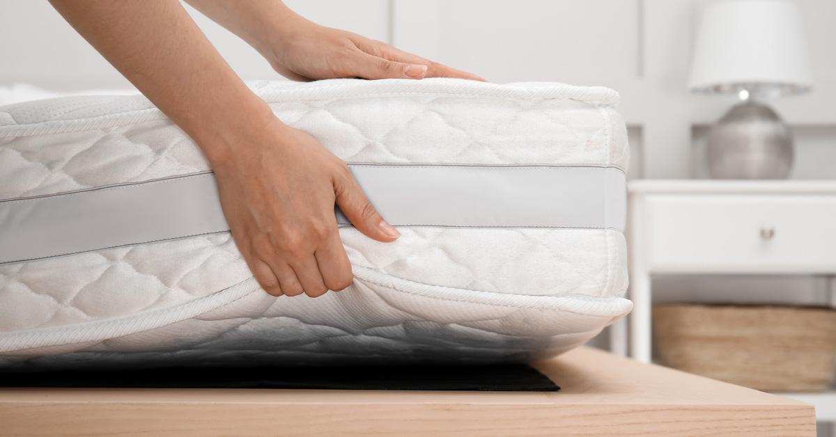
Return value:
<svg viewBox="0 0 836 437">
<path fill-rule="evenodd" d="M 228 232 L 6 264 L 0 332 L 172 307 L 251 276 Z"/>
</svg>

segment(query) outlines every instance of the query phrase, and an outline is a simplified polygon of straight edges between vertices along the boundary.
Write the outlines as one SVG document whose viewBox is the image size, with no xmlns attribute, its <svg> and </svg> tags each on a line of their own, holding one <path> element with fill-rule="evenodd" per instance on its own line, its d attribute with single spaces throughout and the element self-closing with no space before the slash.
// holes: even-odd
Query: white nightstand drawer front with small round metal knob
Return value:
<svg viewBox="0 0 836 437">
<path fill-rule="evenodd" d="M 646 196 L 657 272 L 818 272 L 836 268 L 836 196 Z"/>
</svg>

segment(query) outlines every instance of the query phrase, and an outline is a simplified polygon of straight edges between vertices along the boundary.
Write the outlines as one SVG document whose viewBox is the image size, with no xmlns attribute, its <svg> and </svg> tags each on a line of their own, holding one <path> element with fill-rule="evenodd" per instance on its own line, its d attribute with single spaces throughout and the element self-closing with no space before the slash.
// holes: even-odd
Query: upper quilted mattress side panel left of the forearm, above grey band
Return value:
<svg viewBox="0 0 836 437">
<path fill-rule="evenodd" d="M 208 170 L 194 141 L 165 119 L 0 139 L 0 200 Z"/>
</svg>

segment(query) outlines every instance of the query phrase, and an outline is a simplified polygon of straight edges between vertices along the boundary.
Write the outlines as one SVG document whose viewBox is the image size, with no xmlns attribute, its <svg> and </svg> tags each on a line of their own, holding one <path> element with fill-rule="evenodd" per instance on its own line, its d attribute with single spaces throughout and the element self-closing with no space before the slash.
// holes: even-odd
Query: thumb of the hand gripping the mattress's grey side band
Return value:
<svg viewBox="0 0 836 437">
<path fill-rule="evenodd" d="M 365 236 L 383 242 L 395 241 L 400 236 L 394 226 L 383 220 L 351 175 L 335 182 L 334 194 L 340 211 Z"/>
</svg>

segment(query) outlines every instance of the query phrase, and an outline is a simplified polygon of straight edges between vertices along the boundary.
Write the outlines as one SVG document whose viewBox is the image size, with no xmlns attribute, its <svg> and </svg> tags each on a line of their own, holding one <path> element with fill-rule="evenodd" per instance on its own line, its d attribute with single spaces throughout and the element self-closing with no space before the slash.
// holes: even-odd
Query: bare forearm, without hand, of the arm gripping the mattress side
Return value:
<svg viewBox="0 0 836 437">
<path fill-rule="evenodd" d="M 201 145 L 213 162 L 273 117 L 177 0 L 52 0 L 120 73 Z"/>
</svg>

